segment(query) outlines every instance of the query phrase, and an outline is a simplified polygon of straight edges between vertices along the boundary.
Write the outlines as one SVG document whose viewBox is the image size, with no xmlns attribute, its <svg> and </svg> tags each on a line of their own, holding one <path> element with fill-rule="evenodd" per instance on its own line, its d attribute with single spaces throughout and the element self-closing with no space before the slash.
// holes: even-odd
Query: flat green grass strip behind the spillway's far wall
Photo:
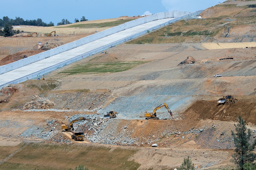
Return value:
<svg viewBox="0 0 256 170">
<path fill-rule="evenodd" d="M 124 24 L 126 22 L 132 21 L 134 19 L 128 19 L 128 20 L 117 20 L 112 22 L 105 22 L 105 23 L 88 23 L 88 24 L 76 24 L 76 25 L 70 25 L 66 27 L 58 27 L 58 28 L 104 28 L 104 27 L 115 27 L 121 24 Z"/>
</svg>

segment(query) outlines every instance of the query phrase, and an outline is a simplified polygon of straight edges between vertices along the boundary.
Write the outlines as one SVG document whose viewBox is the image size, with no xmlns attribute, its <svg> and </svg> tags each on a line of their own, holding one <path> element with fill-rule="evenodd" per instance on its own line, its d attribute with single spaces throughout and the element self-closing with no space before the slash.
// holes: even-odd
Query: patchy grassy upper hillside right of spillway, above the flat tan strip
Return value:
<svg viewBox="0 0 256 170">
<path fill-rule="evenodd" d="M 256 1 L 225 1 L 204 10 L 201 18 L 186 18 L 127 43 L 255 42 L 252 4 Z"/>
</svg>

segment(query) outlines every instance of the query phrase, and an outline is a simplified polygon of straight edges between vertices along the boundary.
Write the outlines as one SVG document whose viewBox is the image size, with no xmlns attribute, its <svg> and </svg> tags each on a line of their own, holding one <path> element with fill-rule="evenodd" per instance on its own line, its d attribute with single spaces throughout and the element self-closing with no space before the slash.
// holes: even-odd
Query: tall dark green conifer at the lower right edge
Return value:
<svg viewBox="0 0 256 170">
<path fill-rule="evenodd" d="M 256 145 L 256 139 L 253 143 L 249 143 L 251 137 L 251 130 L 248 129 L 246 133 L 246 121 L 238 117 L 238 124 L 235 125 L 236 132 L 231 131 L 234 138 L 235 152 L 232 155 L 234 163 L 240 170 L 244 170 L 243 165 L 247 162 L 256 160 L 256 154 L 252 151 Z"/>
</svg>

